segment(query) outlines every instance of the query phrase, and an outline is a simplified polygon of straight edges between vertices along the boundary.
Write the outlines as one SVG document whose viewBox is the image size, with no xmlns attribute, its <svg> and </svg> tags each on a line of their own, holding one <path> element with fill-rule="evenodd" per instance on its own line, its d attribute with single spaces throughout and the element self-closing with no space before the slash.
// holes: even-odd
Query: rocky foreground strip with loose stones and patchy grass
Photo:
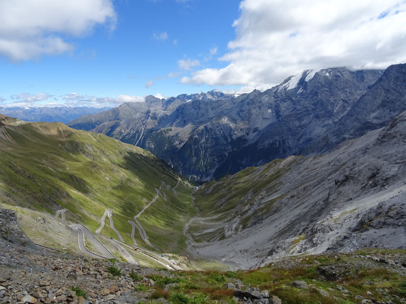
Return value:
<svg viewBox="0 0 406 304">
<path fill-rule="evenodd" d="M 1 253 L 2 304 L 406 303 L 404 250 L 296 256 L 225 273 L 138 268 L 13 243 Z"/>
</svg>

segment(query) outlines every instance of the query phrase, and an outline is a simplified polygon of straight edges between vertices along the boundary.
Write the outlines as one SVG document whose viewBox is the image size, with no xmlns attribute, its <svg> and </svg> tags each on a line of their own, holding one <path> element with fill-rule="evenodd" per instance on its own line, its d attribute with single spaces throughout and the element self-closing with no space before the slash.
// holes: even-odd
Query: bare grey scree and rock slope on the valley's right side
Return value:
<svg viewBox="0 0 406 304">
<path fill-rule="evenodd" d="M 218 198 L 216 212 L 227 218 L 199 214 L 190 224 L 201 240 L 195 250 L 250 268 L 291 254 L 406 248 L 399 237 L 406 235 L 405 149 L 406 111 L 325 155 L 292 156 L 201 185 L 196 201 Z"/>
</svg>

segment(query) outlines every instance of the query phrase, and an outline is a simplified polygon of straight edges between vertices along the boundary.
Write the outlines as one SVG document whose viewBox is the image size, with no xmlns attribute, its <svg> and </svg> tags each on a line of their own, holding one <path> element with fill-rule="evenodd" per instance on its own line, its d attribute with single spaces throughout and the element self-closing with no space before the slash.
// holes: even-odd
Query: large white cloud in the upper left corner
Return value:
<svg viewBox="0 0 406 304">
<path fill-rule="evenodd" d="M 0 55 L 13 61 L 73 50 L 60 35 L 83 36 L 94 25 L 115 27 L 111 0 L 3 0 L 0 2 Z"/>
</svg>

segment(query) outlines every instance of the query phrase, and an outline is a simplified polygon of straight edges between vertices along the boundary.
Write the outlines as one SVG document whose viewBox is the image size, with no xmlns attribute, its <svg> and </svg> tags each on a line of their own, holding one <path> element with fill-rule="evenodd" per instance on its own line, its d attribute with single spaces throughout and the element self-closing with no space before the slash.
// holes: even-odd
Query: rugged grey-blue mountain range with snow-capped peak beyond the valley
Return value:
<svg viewBox="0 0 406 304">
<path fill-rule="evenodd" d="M 406 109 L 405 70 L 405 64 L 385 71 L 328 68 L 240 96 L 148 96 L 68 125 L 143 147 L 188 179 L 205 181 L 289 155 L 321 153 L 384 126 Z"/>
</svg>

